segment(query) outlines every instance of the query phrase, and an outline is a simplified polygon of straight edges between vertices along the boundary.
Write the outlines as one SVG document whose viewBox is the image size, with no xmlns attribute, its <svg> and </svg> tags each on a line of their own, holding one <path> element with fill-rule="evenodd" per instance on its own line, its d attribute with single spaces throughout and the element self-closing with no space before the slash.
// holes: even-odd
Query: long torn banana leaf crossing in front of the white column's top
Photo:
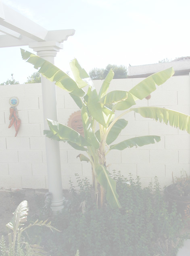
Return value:
<svg viewBox="0 0 190 256">
<path fill-rule="evenodd" d="M 54 66 L 49 61 L 42 59 L 41 57 L 27 52 L 21 49 L 21 55 L 24 60 L 34 65 L 35 69 L 38 69 L 38 72 L 42 74 L 45 78 L 50 80 L 51 82 L 55 82 L 55 84 L 68 92 L 72 92 L 73 94 L 82 97 L 85 92 L 81 88 L 79 88 L 76 82 L 70 78 L 65 72 L 63 72 L 58 67 Z"/>
</svg>

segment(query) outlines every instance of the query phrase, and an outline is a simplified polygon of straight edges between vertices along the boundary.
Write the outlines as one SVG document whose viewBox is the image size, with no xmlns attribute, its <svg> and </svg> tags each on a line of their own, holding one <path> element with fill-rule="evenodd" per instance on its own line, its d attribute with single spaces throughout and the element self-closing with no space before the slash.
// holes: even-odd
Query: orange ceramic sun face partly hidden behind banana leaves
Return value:
<svg viewBox="0 0 190 256">
<path fill-rule="evenodd" d="M 84 137 L 84 128 L 80 110 L 70 115 L 68 120 L 68 126 Z"/>
</svg>

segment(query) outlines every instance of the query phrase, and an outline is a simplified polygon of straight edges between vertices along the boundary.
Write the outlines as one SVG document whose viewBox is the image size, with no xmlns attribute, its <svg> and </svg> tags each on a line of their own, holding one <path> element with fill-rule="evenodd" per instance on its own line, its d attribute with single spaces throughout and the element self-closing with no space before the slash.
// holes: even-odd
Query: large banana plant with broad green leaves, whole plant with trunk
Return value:
<svg viewBox="0 0 190 256">
<path fill-rule="evenodd" d="M 113 144 L 121 130 L 127 126 L 127 120 L 122 117 L 134 111 L 145 118 L 153 118 L 190 133 L 190 116 L 160 107 L 133 107 L 137 100 L 148 97 L 156 86 L 160 86 L 173 76 L 173 68 L 168 68 L 155 73 L 134 86 L 131 90 L 114 90 L 107 92 L 114 73 L 109 71 L 97 92 L 88 73 L 81 68 L 76 59 L 70 66 L 74 79 L 52 63 L 21 49 L 22 58 L 33 64 L 38 72 L 64 90 L 67 90 L 79 109 L 84 126 L 84 137 L 78 132 L 47 119 L 50 130 L 44 134 L 48 138 L 68 142 L 74 149 L 85 151 L 86 155 L 78 155 L 81 161 L 90 162 L 92 165 L 93 185 L 96 203 L 102 207 L 106 199 L 112 208 L 121 208 L 119 196 L 116 191 L 116 182 L 109 176 L 106 167 L 106 155 L 113 149 L 123 150 L 131 147 L 142 147 L 160 141 L 159 136 L 140 136 L 129 138 L 120 143 Z M 87 92 L 83 90 L 88 87 Z M 115 117 L 116 111 L 122 111 Z M 98 128 L 97 128 L 98 126 Z"/>
</svg>

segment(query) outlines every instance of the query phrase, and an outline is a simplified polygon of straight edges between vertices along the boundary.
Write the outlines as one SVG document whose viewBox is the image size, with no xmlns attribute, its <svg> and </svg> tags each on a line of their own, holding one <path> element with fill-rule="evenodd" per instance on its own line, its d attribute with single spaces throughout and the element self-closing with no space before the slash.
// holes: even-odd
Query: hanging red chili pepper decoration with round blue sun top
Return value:
<svg viewBox="0 0 190 256">
<path fill-rule="evenodd" d="M 19 118 L 19 113 L 17 110 L 17 106 L 19 105 L 19 99 L 17 97 L 11 97 L 9 99 L 9 103 L 10 103 L 10 115 L 9 115 L 9 126 L 8 128 L 10 128 L 11 126 L 15 126 L 15 137 L 17 136 L 18 132 L 19 132 L 19 128 L 21 126 L 21 120 Z"/>
</svg>

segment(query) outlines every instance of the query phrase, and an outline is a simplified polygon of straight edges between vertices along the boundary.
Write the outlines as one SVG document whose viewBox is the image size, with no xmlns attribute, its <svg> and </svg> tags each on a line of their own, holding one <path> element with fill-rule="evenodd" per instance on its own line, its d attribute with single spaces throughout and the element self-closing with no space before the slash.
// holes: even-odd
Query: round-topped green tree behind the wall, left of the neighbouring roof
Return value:
<svg viewBox="0 0 190 256">
<path fill-rule="evenodd" d="M 112 69 L 114 72 L 113 79 L 127 77 L 127 67 L 123 65 L 117 66 L 117 65 L 111 65 L 111 64 L 108 64 L 105 69 L 102 69 L 102 68 L 91 69 L 89 72 L 89 76 L 92 80 L 98 80 L 98 79 L 103 80 L 106 78 L 110 69 Z"/>
</svg>

